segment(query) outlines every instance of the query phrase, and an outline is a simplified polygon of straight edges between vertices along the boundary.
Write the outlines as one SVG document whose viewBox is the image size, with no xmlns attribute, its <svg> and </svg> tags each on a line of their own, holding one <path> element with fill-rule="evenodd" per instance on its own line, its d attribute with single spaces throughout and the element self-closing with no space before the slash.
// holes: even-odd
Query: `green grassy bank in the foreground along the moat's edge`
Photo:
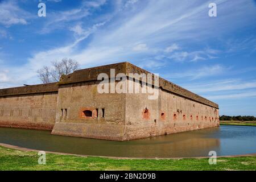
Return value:
<svg viewBox="0 0 256 182">
<path fill-rule="evenodd" d="M 109 159 L 46 154 L 46 165 L 38 164 L 37 152 L 0 146 L 0 170 L 256 170 L 256 156 L 208 159 Z"/>
</svg>

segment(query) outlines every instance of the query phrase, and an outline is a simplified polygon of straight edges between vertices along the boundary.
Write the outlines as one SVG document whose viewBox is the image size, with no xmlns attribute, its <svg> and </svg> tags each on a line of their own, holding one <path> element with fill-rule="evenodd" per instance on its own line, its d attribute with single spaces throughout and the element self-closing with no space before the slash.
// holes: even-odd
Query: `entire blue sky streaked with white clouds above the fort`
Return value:
<svg viewBox="0 0 256 182">
<path fill-rule="evenodd" d="M 253 0 L 0 0 L 0 88 L 38 84 L 36 71 L 64 57 L 81 68 L 129 61 L 218 103 L 220 114 L 256 116 Z"/>
</svg>

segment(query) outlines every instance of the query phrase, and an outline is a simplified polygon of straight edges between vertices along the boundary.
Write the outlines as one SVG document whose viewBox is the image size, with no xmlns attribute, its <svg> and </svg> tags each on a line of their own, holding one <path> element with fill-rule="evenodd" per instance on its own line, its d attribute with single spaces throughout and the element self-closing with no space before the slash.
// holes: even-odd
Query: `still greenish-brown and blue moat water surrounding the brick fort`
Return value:
<svg viewBox="0 0 256 182">
<path fill-rule="evenodd" d="M 256 153 L 256 127 L 220 126 L 127 142 L 51 135 L 50 131 L 0 128 L 0 143 L 71 154 L 172 158 Z"/>
</svg>

